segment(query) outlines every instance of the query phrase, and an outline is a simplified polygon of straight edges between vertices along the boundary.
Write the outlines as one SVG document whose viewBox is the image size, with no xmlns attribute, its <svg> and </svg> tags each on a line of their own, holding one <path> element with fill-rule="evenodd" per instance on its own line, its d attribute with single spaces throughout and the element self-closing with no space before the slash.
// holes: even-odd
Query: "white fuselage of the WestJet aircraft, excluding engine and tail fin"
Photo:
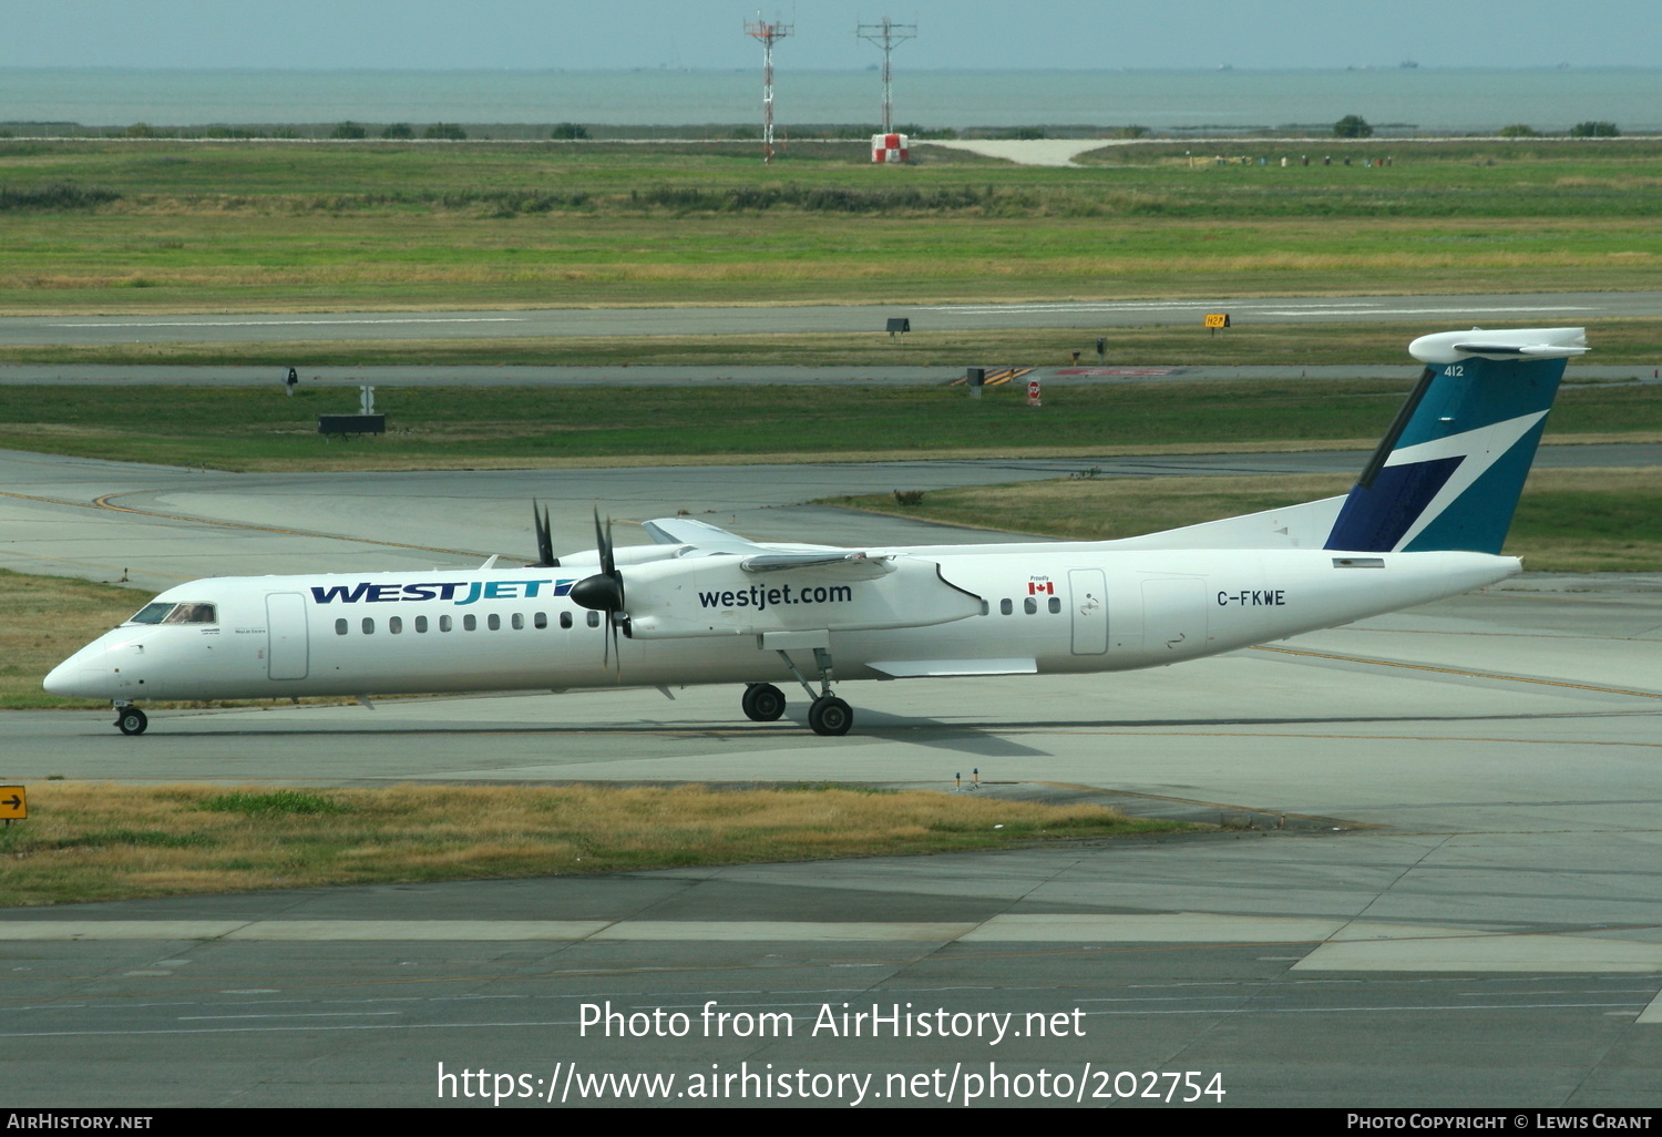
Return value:
<svg viewBox="0 0 1662 1137">
<path fill-rule="evenodd" d="M 1110 672 L 1162 667 L 1346 623 L 1519 570 L 1466 552 L 1124 550 L 1095 544 L 929 547 L 981 612 L 926 627 L 838 630 L 838 605 L 873 582 L 804 592 L 760 577 L 688 595 L 715 613 L 788 608 L 791 627 L 829 628 L 834 678 Z M 179 585 L 158 602 L 214 605 L 211 623 L 126 623 L 47 677 L 47 688 L 115 701 L 570 690 L 789 682 L 758 635 L 620 638 L 565 592 L 583 568 L 241 577 Z M 824 620 L 819 622 L 819 615 Z M 804 673 L 813 653 L 794 658 Z"/>
</svg>

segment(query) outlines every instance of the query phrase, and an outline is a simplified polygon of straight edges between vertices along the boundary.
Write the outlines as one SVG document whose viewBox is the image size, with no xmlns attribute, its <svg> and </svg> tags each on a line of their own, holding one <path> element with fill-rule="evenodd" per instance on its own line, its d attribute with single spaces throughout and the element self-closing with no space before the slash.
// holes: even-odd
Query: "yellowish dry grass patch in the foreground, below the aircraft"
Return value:
<svg viewBox="0 0 1662 1137">
<path fill-rule="evenodd" d="M 982 849 L 1192 826 L 931 791 L 271 790 L 48 781 L 0 831 L 0 904 Z M 999 826 L 999 828 L 996 828 Z"/>
</svg>

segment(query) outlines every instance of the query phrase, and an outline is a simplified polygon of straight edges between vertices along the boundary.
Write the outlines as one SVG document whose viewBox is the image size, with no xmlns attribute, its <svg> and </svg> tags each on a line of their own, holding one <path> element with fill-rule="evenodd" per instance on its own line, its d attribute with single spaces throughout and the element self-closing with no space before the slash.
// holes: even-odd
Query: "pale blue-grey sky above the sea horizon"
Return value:
<svg viewBox="0 0 1662 1137">
<path fill-rule="evenodd" d="M 0 66 L 620 70 L 758 66 L 755 5 L 710 0 L 63 0 L 8 5 Z M 1657 0 L 798 0 L 778 66 L 1662 66 Z"/>
</svg>

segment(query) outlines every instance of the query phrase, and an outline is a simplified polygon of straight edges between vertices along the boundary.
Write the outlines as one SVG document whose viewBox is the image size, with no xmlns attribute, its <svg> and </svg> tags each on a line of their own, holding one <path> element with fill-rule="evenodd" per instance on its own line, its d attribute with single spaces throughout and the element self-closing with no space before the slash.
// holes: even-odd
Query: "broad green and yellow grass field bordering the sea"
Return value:
<svg viewBox="0 0 1662 1137">
<path fill-rule="evenodd" d="M 0 313 L 1650 288 L 1662 141 L 1079 170 L 858 143 L 0 143 Z M 1389 153 L 1388 168 L 1363 156 Z"/>
</svg>

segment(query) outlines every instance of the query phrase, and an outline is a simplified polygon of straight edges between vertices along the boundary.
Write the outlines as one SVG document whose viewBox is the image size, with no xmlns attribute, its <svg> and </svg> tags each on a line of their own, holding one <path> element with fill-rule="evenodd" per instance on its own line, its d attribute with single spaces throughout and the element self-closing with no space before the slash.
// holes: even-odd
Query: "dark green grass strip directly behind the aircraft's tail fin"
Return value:
<svg viewBox="0 0 1662 1137">
<path fill-rule="evenodd" d="M 1413 386 L 1265 381 L 1055 386 L 969 399 L 947 386 L 389 387 L 389 434 L 324 442 L 319 412 L 356 391 L 269 387 L 0 387 L 0 447 L 231 470 L 445 469 L 691 457 L 793 460 L 946 454 L 1112 454 L 1321 442 L 1371 445 Z M 1662 386 L 1562 392 L 1549 437 L 1662 437 Z"/>
</svg>

